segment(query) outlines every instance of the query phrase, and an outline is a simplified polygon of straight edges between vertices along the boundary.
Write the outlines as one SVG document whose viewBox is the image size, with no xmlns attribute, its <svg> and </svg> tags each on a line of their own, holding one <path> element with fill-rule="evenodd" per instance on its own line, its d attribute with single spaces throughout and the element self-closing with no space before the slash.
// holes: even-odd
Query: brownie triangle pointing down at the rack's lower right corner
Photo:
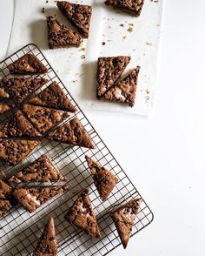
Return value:
<svg viewBox="0 0 205 256">
<path fill-rule="evenodd" d="M 116 230 L 122 241 L 122 246 L 127 247 L 129 237 L 132 232 L 132 226 L 136 219 L 136 214 L 140 209 L 142 199 L 133 199 L 127 204 L 122 205 L 116 211 L 111 212 L 111 217 L 115 222 Z"/>
</svg>

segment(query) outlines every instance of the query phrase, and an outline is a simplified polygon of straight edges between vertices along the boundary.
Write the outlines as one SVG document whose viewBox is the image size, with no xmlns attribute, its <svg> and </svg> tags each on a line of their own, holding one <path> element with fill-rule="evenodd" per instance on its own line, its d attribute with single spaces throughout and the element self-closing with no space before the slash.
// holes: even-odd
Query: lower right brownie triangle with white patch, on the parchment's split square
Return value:
<svg viewBox="0 0 205 256">
<path fill-rule="evenodd" d="M 139 71 L 140 67 L 137 66 L 136 69 L 131 71 L 127 77 L 112 86 L 102 98 L 109 99 L 110 101 L 126 103 L 133 107 L 136 99 L 136 85 Z"/>
</svg>

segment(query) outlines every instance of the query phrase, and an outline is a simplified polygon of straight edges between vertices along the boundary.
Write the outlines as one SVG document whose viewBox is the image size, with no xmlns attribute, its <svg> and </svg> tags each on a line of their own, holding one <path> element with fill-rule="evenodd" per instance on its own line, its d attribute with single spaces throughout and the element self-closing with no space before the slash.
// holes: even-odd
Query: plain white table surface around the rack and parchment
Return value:
<svg viewBox="0 0 205 256">
<path fill-rule="evenodd" d="M 147 0 L 149 1 L 149 0 Z M 86 111 L 155 214 L 129 256 L 205 255 L 205 1 L 166 0 L 155 118 Z M 10 0 L 0 3 L 0 57 Z M 122 246 L 110 255 L 124 255 Z"/>
</svg>

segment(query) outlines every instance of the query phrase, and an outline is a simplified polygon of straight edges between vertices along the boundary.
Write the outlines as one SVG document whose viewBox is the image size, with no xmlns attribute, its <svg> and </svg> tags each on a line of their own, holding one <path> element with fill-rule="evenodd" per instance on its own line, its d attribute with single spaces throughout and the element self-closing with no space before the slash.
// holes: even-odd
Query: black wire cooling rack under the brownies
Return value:
<svg viewBox="0 0 205 256">
<path fill-rule="evenodd" d="M 26 53 L 34 54 L 48 68 L 48 74 L 42 76 L 49 80 L 46 86 L 53 81 L 56 81 L 56 83 L 61 86 L 64 93 L 77 110 L 69 119 L 75 116 L 79 118 L 85 129 L 89 132 L 89 136 L 95 142 L 96 149 L 90 150 L 79 146 L 70 146 L 43 139 L 41 145 L 38 145 L 36 148 L 36 151 L 32 152 L 30 156 L 17 166 L 8 167 L 3 165 L 3 163 L 0 164 L 0 170 L 10 175 L 16 172 L 16 170 L 23 168 L 23 166 L 30 164 L 42 154 L 46 154 L 51 158 L 56 168 L 64 174 L 70 187 L 68 193 L 56 196 L 48 203 L 39 207 L 36 212 L 26 212 L 23 207 L 17 205 L 1 219 L 1 255 L 32 255 L 36 241 L 43 232 L 44 224 L 49 216 L 55 219 L 58 256 L 106 255 L 117 246 L 121 245 L 116 227 L 109 215 L 110 210 L 114 205 L 121 205 L 129 201 L 129 199 L 136 197 L 142 198 L 142 196 L 137 192 L 136 187 L 122 170 L 116 158 L 109 152 L 102 138 L 100 138 L 94 127 L 89 123 L 88 118 L 85 117 L 83 111 L 78 107 L 76 101 L 71 97 L 69 91 L 63 85 L 60 78 L 57 77 L 56 72 L 51 68 L 49 62 L 35 44 L 27 44 L 10 57 L 4 59 L 0 63 L 0 77 L 9 77 L 10 74 L 7 66 Z M 43 90 L 43 87 L 41 90 Z M 13 109 L 12 112 L 17 111 L 17 108 Z M 5 117 L 1 119 L 0 124 L 5 119 L 9 118 L 12 112 L 7 113 Z M 96 187 L 93 184 L 93 179 L 90 176 L 89 168 L 84 158 L 85 154 L 96 159 L 106 168 L 112 170 L 112 172 L 115 172 L 120 180 L 110 194 L 109 199 L 103 203 L 101 199 L 99 199 Z M 89 189 L 89 198 L 91 199 L 97 222 L 101 228 L 101 239 L 89 238 L 85 232 L 77 229 L 75 226 L 69 225 L 64 219 L 64 215 L 76 199 L 77 193 L 81 192 L 85 187 Z M 142 205 L 137 214 L 135 225 L 133 226 L 132 236 L 141 231 L 145 226 L 148 226 L 153 218 L 153 213 L 149 209 L 149 206 L 142 199 Z"/>
</svg>

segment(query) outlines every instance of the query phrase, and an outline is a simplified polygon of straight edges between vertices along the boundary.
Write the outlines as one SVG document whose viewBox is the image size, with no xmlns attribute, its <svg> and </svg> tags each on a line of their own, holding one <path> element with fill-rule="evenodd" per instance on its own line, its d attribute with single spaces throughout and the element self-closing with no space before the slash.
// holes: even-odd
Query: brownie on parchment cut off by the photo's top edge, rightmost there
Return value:
<svg viewBox="0 0 205 256">
<path fill-rule="evenodd" d="M 106 0 L 105 4 L 139 17 L 144 0 Z"/>
</svg>

